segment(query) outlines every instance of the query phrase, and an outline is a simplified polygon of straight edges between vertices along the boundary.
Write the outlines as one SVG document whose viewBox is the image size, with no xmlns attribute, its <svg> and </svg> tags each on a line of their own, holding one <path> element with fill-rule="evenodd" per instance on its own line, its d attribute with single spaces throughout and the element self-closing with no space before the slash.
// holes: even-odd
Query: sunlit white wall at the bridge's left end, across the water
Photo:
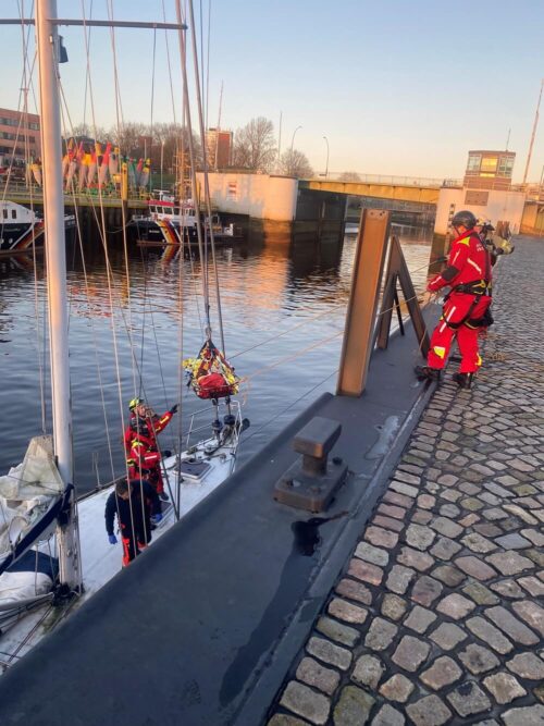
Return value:
<svg viewBox="0 0 544 726">
<path fill-rule="evenodd" d="M 198 173 L 203 190 L 203 174 Z M 220 211 L 257 219 L 292 222 L 297 209 L 298 182 L 269 174 L 208 174 L 211 204 Z M 203 195 L 201 195 L 203 197 Z"/>
</svg>

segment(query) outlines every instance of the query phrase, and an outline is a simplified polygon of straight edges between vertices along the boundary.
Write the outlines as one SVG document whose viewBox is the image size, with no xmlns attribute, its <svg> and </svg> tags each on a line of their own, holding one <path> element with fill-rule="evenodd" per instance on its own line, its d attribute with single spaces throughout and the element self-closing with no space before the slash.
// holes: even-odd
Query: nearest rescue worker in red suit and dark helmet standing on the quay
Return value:
<svg viewBox="0 0 544 726">
<path fill-rule="evenodd" d="M 491 324 L 491 260 L 489 251 L 474 230 L 477 219 L 470 211 L 457 212 L 452 225 L 456 238 L 452 243 L 446 269 L 433 278 L 426 288 L 452 290 L 444 298 L 438 324 L 431 336 L 426 366 L 416 366 L 420 380 L 438 380 L 446 365 L 454 337 L 461 355 L 459 372 L 454 380 L 470 389 L 472 378 L 482 365 L 478 353 L 478 332 Z"/>
</svg>

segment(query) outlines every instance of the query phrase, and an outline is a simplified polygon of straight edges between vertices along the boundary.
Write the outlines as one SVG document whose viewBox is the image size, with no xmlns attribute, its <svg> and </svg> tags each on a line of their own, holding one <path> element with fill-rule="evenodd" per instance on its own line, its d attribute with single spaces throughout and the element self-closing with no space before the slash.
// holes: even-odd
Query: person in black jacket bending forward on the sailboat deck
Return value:
<svg viewBox="0 0 544 726">
<path fill-rule="evenodd" d="M 118 543 L 113 520 L 118 515 L 126 567 L 151 541 L 151 520 L 162 519 L 161 502 L 153 487 L 139 479 L 121 479 L 106 502 L 106 531 L 111 544 Z"/>
</svg>

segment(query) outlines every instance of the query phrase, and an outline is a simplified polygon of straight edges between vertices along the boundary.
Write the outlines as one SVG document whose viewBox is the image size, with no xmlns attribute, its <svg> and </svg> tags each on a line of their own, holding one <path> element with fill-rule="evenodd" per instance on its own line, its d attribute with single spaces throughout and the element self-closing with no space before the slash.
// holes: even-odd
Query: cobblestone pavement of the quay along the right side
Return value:
<svg viewBox="0 0 544 726">
<path fill-rule="evenodd" d="M 434 393 L 269 726 L 544 725 L 544 239 L 495 280 L 474 387 Z"/>
</svg>

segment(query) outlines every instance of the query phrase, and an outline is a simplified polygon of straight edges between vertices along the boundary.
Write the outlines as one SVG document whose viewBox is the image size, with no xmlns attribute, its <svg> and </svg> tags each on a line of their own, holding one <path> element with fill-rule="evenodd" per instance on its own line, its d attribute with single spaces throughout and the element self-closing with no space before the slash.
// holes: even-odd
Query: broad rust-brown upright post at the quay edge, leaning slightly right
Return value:
<svg viewBox="0 0 544 726">
<path fill-rule="evenodd" d="M 388 211 L 362 210 L 346 313 L 337 395 L 360 396 L 364 391 L 388 232 Z"/>
</svg>

